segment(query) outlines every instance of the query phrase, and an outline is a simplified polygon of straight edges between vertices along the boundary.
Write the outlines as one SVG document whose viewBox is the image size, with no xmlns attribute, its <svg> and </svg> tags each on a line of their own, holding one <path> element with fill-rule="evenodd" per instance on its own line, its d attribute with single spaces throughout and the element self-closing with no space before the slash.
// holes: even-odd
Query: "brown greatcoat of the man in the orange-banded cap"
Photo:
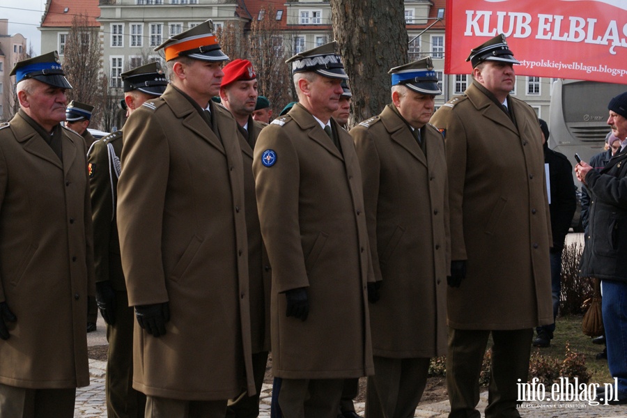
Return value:
<svg viewBox="0 0 627 418">
<path fill-rule="evenodd" d="M 133 387 L 233 398 L 251 373 L 242 154 L 235 119 L 215 130 L 173 86 L 124 126 L 118 233 L 130 306 L 169 302 L 167 334 L 134 332 Z"/>
</svg>

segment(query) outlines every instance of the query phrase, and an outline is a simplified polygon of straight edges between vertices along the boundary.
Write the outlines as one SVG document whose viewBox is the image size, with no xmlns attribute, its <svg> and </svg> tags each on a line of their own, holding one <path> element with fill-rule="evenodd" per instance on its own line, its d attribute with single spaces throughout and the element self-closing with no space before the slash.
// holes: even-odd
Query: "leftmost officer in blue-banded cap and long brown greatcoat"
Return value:
<svg viewBox="0 0 627 418">
<path fill-rule="evenodd" d="M 70 418 L 89 385 L 87 150 L 59 124 L 72 86 L 56 51 L 10 75 L 20 110 L 0 125 L 0 415 Z"/>
</svg>

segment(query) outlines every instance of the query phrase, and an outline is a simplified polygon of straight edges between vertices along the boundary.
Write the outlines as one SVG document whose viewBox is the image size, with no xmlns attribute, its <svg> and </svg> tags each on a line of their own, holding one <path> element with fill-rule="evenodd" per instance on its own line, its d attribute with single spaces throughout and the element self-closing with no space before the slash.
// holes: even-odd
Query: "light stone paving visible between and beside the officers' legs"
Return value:
<svg viewBox="0 0 627 418">
<path fill-rule="evenodd" d="M 106 418 L 107 408 L 104 406 L 104 362 L 89 360 L 91 373 L 91 385 L 80 387 L 76 393 L 75 418 Z M 261 389 L 261 412 L 259 418 L 270 418 L 270 398 L 272 387 L 263 385 Z M 488 393 L 481 394 L 479 410 L 483 413 L 488 402 Z M 359 415 L 364 415 L 364 404 L 357 403 L 355 409 Z M 534 402 L 523 403 L 519 408 L 522 417 L 529 418 L 626 418 L 627 405 L 592 406 L 585 402 Z M 449 413 L 449 401 L 419 405 L 416 410 L 416 418 L 447 418 Z"/>
</svg>

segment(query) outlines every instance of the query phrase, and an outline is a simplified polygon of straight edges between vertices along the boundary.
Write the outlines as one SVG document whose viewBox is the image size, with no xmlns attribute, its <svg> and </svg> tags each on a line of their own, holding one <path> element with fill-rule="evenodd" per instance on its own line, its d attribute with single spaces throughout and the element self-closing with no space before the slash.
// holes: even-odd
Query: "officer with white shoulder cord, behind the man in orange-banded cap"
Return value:
<svg viewBox="0 0 627 418">
<path fill-rule="evenodd" d="M 153 62 L 121 74 L 127 114 L 141 104 L 160 96 L 168 85 L 159 63 Z M 146 396 L 132 387 L 133 324 L 135 317 L 128 306 L 128 295 L 117 222 L 117 186 L 122 156 L 122 131 L 99 141 L 88 151 L 89 183 L 93 217 L 93 252 L 96 300 L 107 323 L 107 376 L 105 394 L 109 417 L 144 417 Z"/>
</svg>

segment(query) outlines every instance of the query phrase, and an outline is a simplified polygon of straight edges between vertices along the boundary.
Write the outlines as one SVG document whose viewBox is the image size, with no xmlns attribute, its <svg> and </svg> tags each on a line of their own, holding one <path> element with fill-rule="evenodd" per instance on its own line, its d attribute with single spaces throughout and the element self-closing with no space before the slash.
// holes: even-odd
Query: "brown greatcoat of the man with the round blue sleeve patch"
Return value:
<svg viewBox="0 0 627 418">
<path fill-rule="evenodd" d="M 331 119 L 342 153 L 296 104 L 261 131 L 253 172 L 272 264 L 272 372 L 287 379 L 373 373 L 366 282 L 373 281 L 353 140 Z M 272 149 L 276 164 L 261 157 Z M 309 316 L 286 317 L 284 292 L 307 287 Z"/>
</svg>

